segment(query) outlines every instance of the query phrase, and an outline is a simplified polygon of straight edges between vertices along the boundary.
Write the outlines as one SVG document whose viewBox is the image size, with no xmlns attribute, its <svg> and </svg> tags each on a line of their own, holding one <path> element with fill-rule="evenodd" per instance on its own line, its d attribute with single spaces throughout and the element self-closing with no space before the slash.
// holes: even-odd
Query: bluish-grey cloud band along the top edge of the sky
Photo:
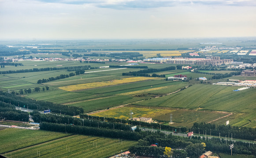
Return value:
<svg viewBox="0 0 256 158">
<path fill-rule="evenodd" d="M 207 6 L 256 6 L 256 0 L 39 0 L 45 3 L 92 4 L 95 7 L 113 9 L 147 9 L 158 7 L 175 7 L 184 5 Z"/>
</svg>

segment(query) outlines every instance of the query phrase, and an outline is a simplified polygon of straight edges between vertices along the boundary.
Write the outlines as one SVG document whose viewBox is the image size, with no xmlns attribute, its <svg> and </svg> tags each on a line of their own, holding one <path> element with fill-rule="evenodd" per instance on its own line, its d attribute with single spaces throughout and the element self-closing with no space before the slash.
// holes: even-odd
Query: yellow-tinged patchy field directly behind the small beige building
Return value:
<svg viewBox="0 0 256 158">
<path fill-rule="evenodd" d="M 128 119 L 130 118 L 131 111 L 134 113 L 133 117 L 156 118 L 157 116 L 165 115 L 167 113 L 171 113 L 176 110 L 157 109 L 157 108 L 122 107 L 122 108 L 114 108 L 107 111 L 97 112 L 92 114 L 92 116 Z"/>
</svg>

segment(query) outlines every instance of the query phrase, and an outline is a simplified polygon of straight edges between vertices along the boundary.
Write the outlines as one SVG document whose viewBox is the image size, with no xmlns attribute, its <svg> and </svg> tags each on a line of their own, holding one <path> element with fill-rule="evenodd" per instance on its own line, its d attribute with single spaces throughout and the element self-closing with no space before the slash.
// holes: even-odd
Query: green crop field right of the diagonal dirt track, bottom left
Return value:
<svg viewBox="0 0 256 158">
<path fill-rule="evenodd" d="M 126 151 L 136 144 L 134 141 L 117 140 L 93 136 L 72 135 L 7 153 L 19 158 L 107 158 Z"/>
</svg>

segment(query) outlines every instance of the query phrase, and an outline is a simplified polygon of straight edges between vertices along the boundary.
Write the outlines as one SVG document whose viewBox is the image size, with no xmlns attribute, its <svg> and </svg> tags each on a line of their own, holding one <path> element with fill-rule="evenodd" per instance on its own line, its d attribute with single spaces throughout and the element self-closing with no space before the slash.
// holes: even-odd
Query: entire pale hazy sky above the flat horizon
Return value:
<svg viewBox="0 0 256 158">
<path fill-rule="evenodd" d="M 0 0 L 0 39 L 256 36 L 256 0 Z"/>
</svg>

